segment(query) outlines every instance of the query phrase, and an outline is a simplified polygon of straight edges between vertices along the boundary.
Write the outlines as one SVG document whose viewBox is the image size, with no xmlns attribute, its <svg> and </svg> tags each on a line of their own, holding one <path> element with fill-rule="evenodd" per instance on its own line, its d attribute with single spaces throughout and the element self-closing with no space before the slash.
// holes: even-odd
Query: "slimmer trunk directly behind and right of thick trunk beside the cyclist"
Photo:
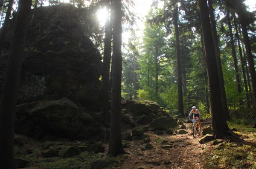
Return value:
<svg viewBox="0 0 256 169">
<path fill-rule="evenodd" d="M 214 10 L 212 8 L 212 0 L 208 0 L 208 6 L 209 6 L 209 14 L 210 14 L 210 21 L 211 21 L 211 28 L 212 28 L 212 38 L 214 43 L 214 49 L 215 49 L 215 56 L 216 56 L 216 62 L 218 67 L 218 77 L 221 87 L 221 101 L 222 101 L 222 109 L 224 113 L 224 118 L 226 120 L 230 120 L 230 115 L 227 107 L 227 96 L 226 96 L 226 90 L 225 90 L 225 84 L 224 84 L 224 78 L 223 78 L 223 72 L 222 72 L 222 64 L 221 64 L 221 53 L 218 45 L 218 35 L 216 30 L 216 21 L 214 16 Z"/>
</svg>

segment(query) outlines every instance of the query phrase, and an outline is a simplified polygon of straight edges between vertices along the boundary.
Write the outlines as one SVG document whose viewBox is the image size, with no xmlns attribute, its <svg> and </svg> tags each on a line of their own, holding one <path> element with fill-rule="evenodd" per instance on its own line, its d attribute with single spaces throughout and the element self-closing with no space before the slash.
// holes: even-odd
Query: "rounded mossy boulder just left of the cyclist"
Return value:
<svg viewBox="0 0 256 169">
<path fill-rule="evenodd" d="M 169 128 L 176 128 L 178 126 L 177 121 L 172 117 L 160 117 L 149 124 L 152 131 L 167 130 Z"/>
</svg>

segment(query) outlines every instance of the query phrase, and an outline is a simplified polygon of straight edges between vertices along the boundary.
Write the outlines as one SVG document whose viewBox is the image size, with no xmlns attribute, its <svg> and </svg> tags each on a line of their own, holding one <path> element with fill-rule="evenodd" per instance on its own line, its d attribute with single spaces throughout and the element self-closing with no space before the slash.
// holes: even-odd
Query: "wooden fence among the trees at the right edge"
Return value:
<svg viewBox="0 0 256 169">
<path fill-rule="evenodd" d="M 237 110 L 230 112 L 230 118 L 231 120 L 234 118 L 256 120 L 256 110 L 253 107 L 241 107 Z"/>
</svg>

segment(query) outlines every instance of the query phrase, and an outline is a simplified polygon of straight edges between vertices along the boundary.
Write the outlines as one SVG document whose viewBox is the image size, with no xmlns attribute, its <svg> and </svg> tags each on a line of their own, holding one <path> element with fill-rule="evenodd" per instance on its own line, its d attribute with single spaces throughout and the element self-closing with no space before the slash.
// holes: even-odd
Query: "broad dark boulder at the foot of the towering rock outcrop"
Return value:
<svg viewBox="0 0 256 169">
<path fill-rule="evenodd" d="M 43 138 L 49 133 L 79 139 L 101 132 L 90 114 L 67 98 L 20 104 L 16 110 L 15 132 L 34 138 Z"/>
</svg>

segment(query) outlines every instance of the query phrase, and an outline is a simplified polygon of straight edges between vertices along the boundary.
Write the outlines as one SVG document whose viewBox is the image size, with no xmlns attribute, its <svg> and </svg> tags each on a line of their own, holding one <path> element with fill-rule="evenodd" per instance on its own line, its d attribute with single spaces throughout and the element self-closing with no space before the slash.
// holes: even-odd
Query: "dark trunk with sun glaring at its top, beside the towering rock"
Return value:
<svg viewBox="0 0 256 169">
<path fill-rule="evenodd" d="M 111 60 L 111 32 L 110 32 L 110 20 L 109 20 L 109 0 L 106 0 L 105 6 L 107 9 L 107 20 L 105 23 L 105 39 L 104 39 L 104 56 L 103 56 L 103 69 L 102 69 L 102 118 L 103 122 L 109 120 L 109 71 Z"/>
</svg>

